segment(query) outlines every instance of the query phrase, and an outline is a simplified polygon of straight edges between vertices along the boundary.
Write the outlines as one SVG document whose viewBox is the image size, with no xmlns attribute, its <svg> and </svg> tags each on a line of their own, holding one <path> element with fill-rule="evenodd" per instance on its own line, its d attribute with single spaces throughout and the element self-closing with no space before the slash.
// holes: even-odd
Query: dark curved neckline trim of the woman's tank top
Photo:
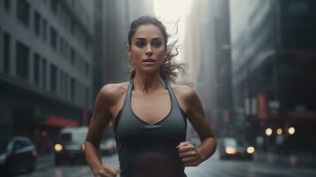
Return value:
<svg viewBox="0 0 316 177">
<path fill-rule="evenodd" d="M 129 92 L 129 95 L 128 95 L 128 104 L 130 105 L 129 108 L 130 108 L 130 112 L 133 113 L 133 115 L 135 116 L 136 119 L 140 120 L 141 122 L 143 122 L 144 124 L 146 124 L 147 126 L 157 126 L 158 124 L 162 123 L 164 120 L 168 119 L 169 115 L 171 114 L 171 112 L 173 112 L 173 96 L 171 95 L 171 90 L 169 89 L 169 85 L 166 81 L 164 81 L 165 85 L 166 85 L 166 90 L 168 91 L 168 95 L 170 97 L 170 110 L 169 112 L 166 114 L 166 116 L 164 116 L 164 118 L 160 118 L 158 119 L 155 123 L 152 123 L 150 124 L 149 122 L 145 121 L 144 119 L 142 119 L 141 117 L 137 116 L 137 114 L 134 112 L 133 108 L 132 108 L 132 91 L 133 91 L 133 88 L 134 88 L 134 80 L 131 80 L 130 81 L 130 84 L 128 87 L 130 87 L 130 89 L 127 90 L 127 92 Z"/>
</svg>

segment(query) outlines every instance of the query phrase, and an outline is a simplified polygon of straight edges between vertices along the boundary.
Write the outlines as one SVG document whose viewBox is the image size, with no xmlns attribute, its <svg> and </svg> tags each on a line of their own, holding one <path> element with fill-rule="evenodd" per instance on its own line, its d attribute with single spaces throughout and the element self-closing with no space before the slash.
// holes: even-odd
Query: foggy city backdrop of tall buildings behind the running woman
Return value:
<svg viewBox="0 0 316 177">
<path fill-rule="evenodd" d="M 216 137 L 255 148 L 250 162 L 216 153 L 188 176 L 315 174 L 316 1 L 0 0 L 0 136 L 29 137 L 46 163 L 19 175 L 92 176 L 53 165 L 53 147 L 62 128 L 89 125 L 99 89 L 128 80 L 127 31 L 142 15 L 179 39 L 177 82 L 197 90 Z"/>
</svg>

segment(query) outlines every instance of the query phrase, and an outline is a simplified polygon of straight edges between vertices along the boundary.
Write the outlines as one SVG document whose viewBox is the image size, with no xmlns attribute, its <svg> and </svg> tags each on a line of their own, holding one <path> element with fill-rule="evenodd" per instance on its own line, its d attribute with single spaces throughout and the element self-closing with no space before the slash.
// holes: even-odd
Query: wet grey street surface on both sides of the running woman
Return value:
<svg viewBox="0 0 316 177">
<path fill-rule="evenodd" d="M 105 157 L 104 162 L 118 165 L 117 155 Z M 215 154 L 211 159 L 205 161 L 197 167 L 187 167 L 188 177 L 285 177 L 285 176 L 315 176 L 316 170 L 312 167 L 289 167 L 288 165 L 269 165 L 263 162 L 239 161 L 239 160 L 219 160 Z M 20 177 L 80 177 L 91 176 L 89 167 L 86 165 L 53 165 L 52 157 L 39 160 L 34 173 L 20 174 Z"/>
</svg>

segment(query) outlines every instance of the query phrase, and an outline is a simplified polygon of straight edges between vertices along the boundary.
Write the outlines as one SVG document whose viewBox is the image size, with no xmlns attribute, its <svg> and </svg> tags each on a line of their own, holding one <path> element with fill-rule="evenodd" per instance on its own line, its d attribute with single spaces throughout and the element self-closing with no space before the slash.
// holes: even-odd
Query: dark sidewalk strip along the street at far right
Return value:
<svg viewBox="0 0 316 177">
<path fill-rule="evenodd" d="M 315 167 L 316 155 L 300 154 L 300 155 L 280 155 L 276 153 L 255 154 L 254 160 L 261 163 L 272 165 L 287 165 L 287 166 L 304 166 Z"/>
</svg>

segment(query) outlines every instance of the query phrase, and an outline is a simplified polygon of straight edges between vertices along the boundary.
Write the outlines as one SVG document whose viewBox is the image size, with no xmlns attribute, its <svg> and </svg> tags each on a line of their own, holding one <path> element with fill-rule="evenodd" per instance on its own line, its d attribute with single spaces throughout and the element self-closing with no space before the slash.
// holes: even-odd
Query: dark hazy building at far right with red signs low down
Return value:
<svg viewBox="0 0 316 177">
<path fill-rule="evenodd" d="M 315 8 L 309 0 L 231 1 L 235 110 L 252 141 L 280 128 L 287 149 L 314 150 Z"/>
</svg>

